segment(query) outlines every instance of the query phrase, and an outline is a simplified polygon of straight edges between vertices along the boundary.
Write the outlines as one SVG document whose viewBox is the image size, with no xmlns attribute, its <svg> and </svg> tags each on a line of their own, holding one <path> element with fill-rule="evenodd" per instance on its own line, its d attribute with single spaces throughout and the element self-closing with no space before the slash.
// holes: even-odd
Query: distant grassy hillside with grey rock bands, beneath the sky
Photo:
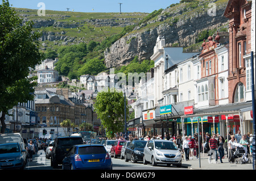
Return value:
<svg viewBox="0 0 256 181">
<path fill-rule="evenodd" d="M 62 45 L 89 41 L 101 42 L 106 37 L 122 32 L 123 27 L 137 24 L 147 13 L 101 13 L 46 10 L 46 16 L 38 16 L 38 10 L 15 9 L 23 22 L 32 20 L 34 30 L 41 31 L 42 50 L 57 49 Z"/>
</svg>

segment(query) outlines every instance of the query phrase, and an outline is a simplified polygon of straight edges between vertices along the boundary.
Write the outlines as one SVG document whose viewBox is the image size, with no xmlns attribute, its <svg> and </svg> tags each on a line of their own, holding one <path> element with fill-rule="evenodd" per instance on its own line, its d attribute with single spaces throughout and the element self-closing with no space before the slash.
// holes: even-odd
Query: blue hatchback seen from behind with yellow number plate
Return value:
<svg viewBox="0 0 256 181">
<path fill-rule="evenodd" d="M 112 170 L 112 161 L 103 145 L 75 145 L 63 159 L 63 170 Z"/>
</svg>

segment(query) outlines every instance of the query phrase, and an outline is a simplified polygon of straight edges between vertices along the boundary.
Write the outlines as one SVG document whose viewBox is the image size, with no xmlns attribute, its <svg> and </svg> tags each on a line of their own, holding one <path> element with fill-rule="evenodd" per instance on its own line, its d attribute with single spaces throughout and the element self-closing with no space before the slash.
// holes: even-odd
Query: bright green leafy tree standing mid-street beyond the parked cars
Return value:
<svg viewBox="0 0 256 181">
<path fill-rule="evenodd" d="M 125 98 L 122 92 L 108 89 L 98 92 L 94 104 L 101 124 L 106 128 L 108 137 L 114 137 L 114 133 L 122 132 L 125 126 Z M 126 99 L 126 117 L 129 114 L 128 100 Z"/>
</svg>

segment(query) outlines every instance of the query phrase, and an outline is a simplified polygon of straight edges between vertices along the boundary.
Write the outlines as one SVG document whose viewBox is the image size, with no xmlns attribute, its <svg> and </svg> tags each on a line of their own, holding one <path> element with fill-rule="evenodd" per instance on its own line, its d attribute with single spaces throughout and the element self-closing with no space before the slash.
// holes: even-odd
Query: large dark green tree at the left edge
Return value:
<svg viewBox="0 0 256 181">
<path fill-rule="evenodd" d="M 32 33 L 32 21 L 22 19 L 10 7 L 9 1 L 0 5 L 0 112 L 1 133 L 5 132 L 5 115 L 18 102 L 32 100 L 35 78 L 27 78 L 29 67 L 42 59 L 39 52 L 39 32 Z"/>
</svg>

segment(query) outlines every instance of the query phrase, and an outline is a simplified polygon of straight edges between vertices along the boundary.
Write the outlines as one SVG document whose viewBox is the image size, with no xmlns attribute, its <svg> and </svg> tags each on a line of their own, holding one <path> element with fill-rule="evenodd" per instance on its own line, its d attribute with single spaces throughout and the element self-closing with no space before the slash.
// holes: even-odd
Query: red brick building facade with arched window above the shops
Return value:
<svg viewBox="0 0 256 181">
<path fill-rule="evenodd" d="M 229 19 L 229 103 L 245 102 L 246 62 L 251 51 L 251 2 L 229 0 L 224 16 Z"/>
</svg>

